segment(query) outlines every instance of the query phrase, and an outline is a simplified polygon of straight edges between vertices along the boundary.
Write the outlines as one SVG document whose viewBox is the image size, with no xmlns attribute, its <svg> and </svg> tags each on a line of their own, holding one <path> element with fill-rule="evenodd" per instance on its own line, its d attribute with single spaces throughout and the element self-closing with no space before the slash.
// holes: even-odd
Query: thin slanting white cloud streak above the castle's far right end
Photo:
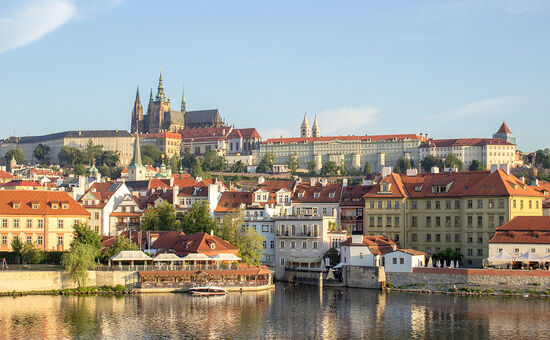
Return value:
<svg viewBox="0 0 550 340">
<path fill-rule="evenodd" d="M 477 115 L 502 113 L 508 106 L 516 101 L 516 97 L 496 97 L 480 100 L 467 105 L 452 108 L 443 113 L 425 118 L 425 121 L 450 121 L 466 119 Z"/>
</svg>

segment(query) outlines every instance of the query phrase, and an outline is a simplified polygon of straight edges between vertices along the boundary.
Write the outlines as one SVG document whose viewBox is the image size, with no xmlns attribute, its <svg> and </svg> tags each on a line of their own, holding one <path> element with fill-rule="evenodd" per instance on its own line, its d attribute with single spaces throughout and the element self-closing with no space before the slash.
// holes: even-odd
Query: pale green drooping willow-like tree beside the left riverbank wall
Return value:
<svg viewBox="0 0 550 340">
<path fill-rule="evenodd" d="M 63 255 L 61 263 L 71 281 L 82 287 L 88 281 L 88 270 L 96 266 L 96 249 L 85 243 L 76 243 L 70 252 Z"/>
</svg>

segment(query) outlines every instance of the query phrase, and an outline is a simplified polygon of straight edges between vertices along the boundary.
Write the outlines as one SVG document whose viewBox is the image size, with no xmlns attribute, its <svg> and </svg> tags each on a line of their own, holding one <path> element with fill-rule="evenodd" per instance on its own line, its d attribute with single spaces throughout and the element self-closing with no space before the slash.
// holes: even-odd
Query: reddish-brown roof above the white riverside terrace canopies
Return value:
<svg viewBox="0 0 550 340">
<path fill-rule="evenodd" d="M 212 248 L 212 244 L 215 244 Z M 205 255 L 215 255 L 217 253 L 234 253 L 238 248 L 231 243 L 222 240 L 216 235 L 207 233 L 196 233 L 185 235 L 183 232 L 174 232 L 161 235 L 154 243 L 155 249 L 166 249 L 175 251 L 178 255 L 187 255 L 190 253 L 203 253 Z"/>
</svg>

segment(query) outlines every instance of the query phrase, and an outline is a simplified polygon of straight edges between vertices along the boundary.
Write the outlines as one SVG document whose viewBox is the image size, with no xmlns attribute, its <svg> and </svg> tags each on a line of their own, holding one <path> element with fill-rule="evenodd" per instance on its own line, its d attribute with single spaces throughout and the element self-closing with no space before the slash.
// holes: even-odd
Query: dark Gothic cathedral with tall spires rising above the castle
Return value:
<svg viewBox="0 0 550 340">
<path fill-rule="evenodd" d="M 181 96 L 181 109 L 175 111 L 170 109 L 170 98 L 164 94 L 162 85 L 162 74 L 159 77 L 157 95 L 153 98 L 153 90 L 149 96 L 147 114 L 143 114 L 143 106 L 139 99 L 139 88 L 136 92 L 136 101 L 132 109 L 131 132 L 136 133 L 158 133 L 162 131 L 178 132 L 183 129 L 224 127 L 217 109 L 187 111 L 185 109 L 185 97 Z"/>
</svg>

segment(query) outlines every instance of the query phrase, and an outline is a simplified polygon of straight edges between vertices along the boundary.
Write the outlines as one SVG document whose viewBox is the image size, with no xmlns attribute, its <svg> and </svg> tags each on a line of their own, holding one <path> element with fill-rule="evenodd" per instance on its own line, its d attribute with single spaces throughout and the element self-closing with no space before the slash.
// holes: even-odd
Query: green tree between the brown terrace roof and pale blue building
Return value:
<svg viewBox="0 0 550 340">
<path fill-rule="evenodd" d="M 249 265 L 259 265 L 263 256 L 263 237 L 259 232 L 243 226 L 243 218 L 239 213 L 225 215 L 219 237 L 239 248 L 239 257 Z"/>
</svg>

